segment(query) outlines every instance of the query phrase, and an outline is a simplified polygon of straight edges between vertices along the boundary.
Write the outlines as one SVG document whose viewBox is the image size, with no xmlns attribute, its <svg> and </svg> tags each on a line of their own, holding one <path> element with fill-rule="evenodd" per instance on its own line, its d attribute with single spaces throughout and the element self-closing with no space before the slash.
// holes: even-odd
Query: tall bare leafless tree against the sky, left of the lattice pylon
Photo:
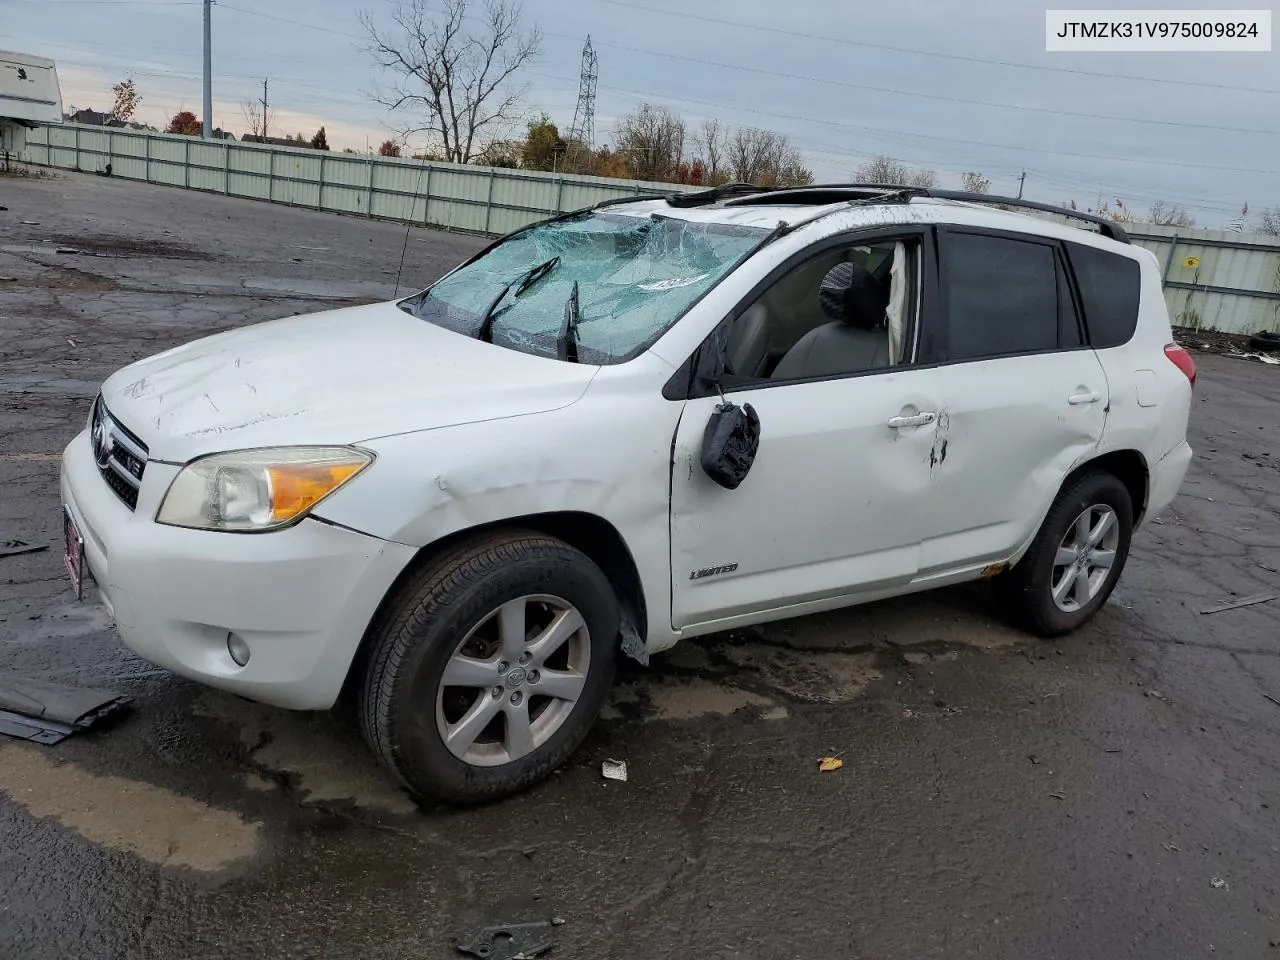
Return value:
<svg viewBox="0 0 1280 960">
<path fill-rule="evenodd" d="M 516 0 L 485 0 L 480 17 L 468 15 L 468 8 L 470 0 L 402 0 L 390 29 L 378 27 L 369 12 L 360 14 L 374 59 L 397 74 L 390 91 L 374 99 L 425 115 L 425 123 L 406 124 L 402 136 L 429 132 L 439 137 L 444 157 L 458 164 L 483 154 L 517 119 L 527 87 L 512 79 L 541 44 L 538 27 L 521 31 Z"/>
</svg>

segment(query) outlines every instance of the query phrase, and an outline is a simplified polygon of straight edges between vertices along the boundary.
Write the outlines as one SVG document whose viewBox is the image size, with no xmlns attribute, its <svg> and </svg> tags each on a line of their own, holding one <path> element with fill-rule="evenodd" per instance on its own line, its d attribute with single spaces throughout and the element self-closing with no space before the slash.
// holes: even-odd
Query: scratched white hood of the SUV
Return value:
<svg viewBox="0 0 1280 960">
<path fill-rule="evenodd" d="M 154 460 L 357 443 L 568 406 L 599 370 L 474 340 L 394 303 L 228 330 L 138 361 L 102 385 Z"/>
</svg>

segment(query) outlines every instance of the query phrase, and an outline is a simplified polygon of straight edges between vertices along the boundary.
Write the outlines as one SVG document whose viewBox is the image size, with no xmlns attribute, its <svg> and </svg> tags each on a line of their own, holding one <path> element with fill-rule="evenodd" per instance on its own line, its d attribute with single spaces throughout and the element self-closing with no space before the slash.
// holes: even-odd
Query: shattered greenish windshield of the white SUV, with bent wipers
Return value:
<svg viewBox="0 0 1280 960">
<path fill-rule="evenodd" d="M 401 308 L 467 337 L 480 334 L 490 311 L 493 343 L 554 357 L 577 283 L 580 361 L 618 364 L 657 340 L 765 234 L 756 227 L 589 212 L 513 236 Z"/>
</svg>

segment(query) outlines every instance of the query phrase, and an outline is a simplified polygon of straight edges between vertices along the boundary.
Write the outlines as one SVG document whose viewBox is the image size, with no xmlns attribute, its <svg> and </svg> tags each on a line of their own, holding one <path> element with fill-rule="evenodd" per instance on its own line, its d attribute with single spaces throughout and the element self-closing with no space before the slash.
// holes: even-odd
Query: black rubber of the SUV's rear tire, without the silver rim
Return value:
<svg viewBox="0 0 1280 960">
<path fill-rule="evenodd" d="M 1119 521 L 1115 561 L 1102 589 L 1087 604 L 1064 611 L 1053 602 L 1053 559 L 1068 530 L 1087 508 L 1107 506 Z M 1011 618 L 1043 637 L 1064 636 L 1084 626 L 1107 602 L 1129 557 L 1133 535 L 1133 502 L 1129 489 L 1114 475 L 1088 470 L 1073 477 L 1059 493 L 1030 548 L 1018 564 L 997 581 L 998 596 Z"/>
</svg>

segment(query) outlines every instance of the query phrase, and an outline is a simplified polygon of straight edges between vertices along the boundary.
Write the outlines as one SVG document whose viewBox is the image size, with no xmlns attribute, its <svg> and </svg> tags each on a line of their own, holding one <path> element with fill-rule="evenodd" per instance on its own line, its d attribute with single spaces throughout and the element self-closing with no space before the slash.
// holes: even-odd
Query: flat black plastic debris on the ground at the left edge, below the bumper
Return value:
<svg viewBox="0 0 1280 960">
<path fill-rule="evenodd" d="M 0 733 L 51 746 L 115 717 L 133 698 L 0 672 Z"/>
</svg>

